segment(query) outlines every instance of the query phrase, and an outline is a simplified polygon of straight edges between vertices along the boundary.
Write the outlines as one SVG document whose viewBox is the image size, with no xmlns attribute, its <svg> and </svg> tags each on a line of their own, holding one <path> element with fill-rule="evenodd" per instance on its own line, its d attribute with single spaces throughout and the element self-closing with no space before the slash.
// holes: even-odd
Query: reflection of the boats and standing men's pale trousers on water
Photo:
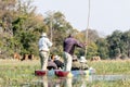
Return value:
<svg viewBox="0 0 130 87">
<path fill-rule="evenodd" d="M 38 77 L 38 80 L 31 83 L 38 87 L 86 87 L 84 78 L 82 77 Z"/>
</svg>

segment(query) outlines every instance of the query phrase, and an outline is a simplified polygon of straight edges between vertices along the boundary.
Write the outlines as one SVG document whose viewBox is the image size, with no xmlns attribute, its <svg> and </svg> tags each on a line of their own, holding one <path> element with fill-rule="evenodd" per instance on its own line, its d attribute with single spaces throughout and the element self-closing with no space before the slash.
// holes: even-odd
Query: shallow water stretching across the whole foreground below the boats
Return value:
<svg viewBox="0 0 130 87">
<path fill-rule="evenodd" d="M 91 85 L 89 84 L 95 84 L 95 82 L 103 82 L 102 84 L 104 84 L 104 80 L 105 80 L 112 84 L 112 82 L 130 80 L 129 75 L 95 75 L 95 74 L 92 74 L 89 76 L 77 75 L 74 77 L 56 77 L 55 75 L 51 75 L 51 76 L 34 76 L 32 79 L 28 79 L 28 76 L 29 75 L 26 75 L 27 79 L 24 82 L 22 80 L 9 82 L 2 85 L 0 82 L 0 87 L 91 87 Z M 103 87 L 103 86 L 99 86 L 99 87 Z"/>
</svg>

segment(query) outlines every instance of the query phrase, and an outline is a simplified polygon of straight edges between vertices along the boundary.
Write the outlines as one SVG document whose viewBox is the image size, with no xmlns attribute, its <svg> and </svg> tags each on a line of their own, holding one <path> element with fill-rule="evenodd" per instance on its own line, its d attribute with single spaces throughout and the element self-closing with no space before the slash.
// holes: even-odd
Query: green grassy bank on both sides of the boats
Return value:
<svg viewBox="0 0 130 87">
<path fill-rule="evenodd" d="M 130 75 L 129 60 L 88 62 L 88 64 L 94 67 L 99 75 Z M 34 71 L 39 69 L 39 60 L 23 62 L 17 60 L 0 60 L 0 87 L 22 87 L 23 83 L 37 80 Z M 129 87 L 129 79 L 87 83 L 87 87 Z"/>
</svg>

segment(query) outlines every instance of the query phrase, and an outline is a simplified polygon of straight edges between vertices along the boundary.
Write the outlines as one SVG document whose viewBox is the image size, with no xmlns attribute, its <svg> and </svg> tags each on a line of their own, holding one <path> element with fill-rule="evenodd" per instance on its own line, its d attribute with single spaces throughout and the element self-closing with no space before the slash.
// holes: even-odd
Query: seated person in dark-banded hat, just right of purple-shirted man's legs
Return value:
<svg viewBox="0 0 130 87">
<path fill-rule="evenodd" d="M 80 62 L 76 55 L 73 57 L 72 71 L 80 70 Z"/>
</svg>

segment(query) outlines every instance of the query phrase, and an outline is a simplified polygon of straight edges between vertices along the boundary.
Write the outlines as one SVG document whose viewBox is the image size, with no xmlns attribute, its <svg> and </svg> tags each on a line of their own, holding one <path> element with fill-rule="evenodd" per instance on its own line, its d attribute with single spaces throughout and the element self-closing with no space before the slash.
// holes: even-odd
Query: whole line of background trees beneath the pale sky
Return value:
<svg viewBox="0 0 130 87">
<path fill-rule="evenodd" d="M 36 13 L 31 0 L 0 1 L 0 59 L 12 59 L 14 52 L 38 57 L 38 39 L 47 32 L 53 41 L 51 53 L 62 55 L 63 40 L 74 34 L 81 42 L 86 42 L 86 30 L 74 28 L 61 12 Z M 110 29 L 110 28 L 109 28 Z M 129 59 L 130 30 L 115 30 L 112 35 L 101 37 L 95 29 L 88 28 L 87 59 Z M 84 55 L 86 49 L 77 49 L 76 55 Z"/>
</svg>

